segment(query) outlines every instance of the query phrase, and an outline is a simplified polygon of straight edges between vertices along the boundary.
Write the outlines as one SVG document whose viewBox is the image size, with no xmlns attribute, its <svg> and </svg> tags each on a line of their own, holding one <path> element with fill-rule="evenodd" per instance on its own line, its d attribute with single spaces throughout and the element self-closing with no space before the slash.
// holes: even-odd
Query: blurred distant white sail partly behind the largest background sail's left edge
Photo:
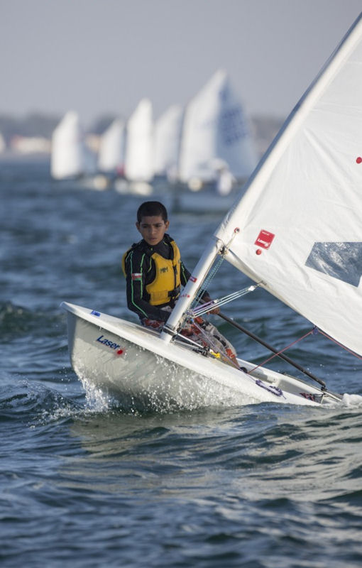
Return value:
<svg viewBox="0 0 362 568">
<path fill-rule="evenodd" d="M 172 174 L 180 152 L 183 110 L 178 104 L 169 107 L 155 122 L 155 174 Z"/>
</svg>

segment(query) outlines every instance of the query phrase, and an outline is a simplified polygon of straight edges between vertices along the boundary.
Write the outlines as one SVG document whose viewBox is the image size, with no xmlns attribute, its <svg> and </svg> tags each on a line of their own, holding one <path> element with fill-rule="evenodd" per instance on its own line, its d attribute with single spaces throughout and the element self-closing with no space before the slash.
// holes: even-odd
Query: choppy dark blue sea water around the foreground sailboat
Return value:
<svg viewBox="0 0 362 568">
<path fill-rule="evenodd" d="M 1 565 L 360 567 L 358 398 L 173 413 L 89 403 L 59 305 L 129 317 L 119 264 L 139 200 L 55 185 L 40 161 L 3 161 L 0 185 Z M 217 222 L 172 217 L 190 268 Z M 212 295 L 247 282 L 227 268 Z M 310 329 L 263 290 L 223 311 L 278 347 Z M 246 359 L 268 357 L 220 327 Z M 288 354 L 331 391 L 362 395 L 361 361 L 324 337 Z"/>
</svg>

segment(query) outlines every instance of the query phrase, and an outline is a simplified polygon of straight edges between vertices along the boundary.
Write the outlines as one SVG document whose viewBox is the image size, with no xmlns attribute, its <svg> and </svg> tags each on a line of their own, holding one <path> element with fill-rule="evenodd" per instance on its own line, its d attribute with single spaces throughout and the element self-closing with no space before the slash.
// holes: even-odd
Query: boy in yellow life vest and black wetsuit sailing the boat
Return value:
<svg viewBox="0 0 362 568">
<path fill-rule="evenodd" d="M 175 307 L 181 286 L 185 286 L 190 278 L 177 244 L 166 233 L 169 226 L 168 213 L 162 203 L 147 201 L 141 204 L 136 227 L 143 238 L 133 244 L 122 258 L 129 310 L 136 312 L 141 324 L 159 331 Z M 211 301 L 206 291 L 202 300 Z M 219 313 L 219 308 L 211 313 Z M 234 347 L 216 327 L 201 317 L 185 324 L 181 334 L 197 344 L 211 346 L 223 355 L 223 359 L 236 364 Z"/>
</svg>

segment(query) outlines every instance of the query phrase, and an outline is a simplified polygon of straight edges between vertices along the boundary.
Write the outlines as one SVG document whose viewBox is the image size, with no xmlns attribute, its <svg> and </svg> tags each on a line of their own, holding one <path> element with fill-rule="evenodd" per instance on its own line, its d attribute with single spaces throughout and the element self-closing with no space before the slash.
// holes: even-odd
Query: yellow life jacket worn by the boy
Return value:
<svg viewBox="0 0 362 568">
<path fill-rule="evenodd" d="M 155 278 L 149 284 L 146 284 L 146 292 L 150 295 L 150 305 L 158 306 L 167 304 L 180 295 L 180 265 L 181 255 L 180 250 L 175 241 L 170 241 L 173 250 L 173 258 L 164 258 L 160 254 L 152 251 L 145 250 L 149 258 L 153 259 L 155 263 Z M 128 253 L 136 249 L 138 244 L 131 246 L 124 256 L 122 257 L 122 269 L 126 276 L 126 256 Z"/>
</svg>

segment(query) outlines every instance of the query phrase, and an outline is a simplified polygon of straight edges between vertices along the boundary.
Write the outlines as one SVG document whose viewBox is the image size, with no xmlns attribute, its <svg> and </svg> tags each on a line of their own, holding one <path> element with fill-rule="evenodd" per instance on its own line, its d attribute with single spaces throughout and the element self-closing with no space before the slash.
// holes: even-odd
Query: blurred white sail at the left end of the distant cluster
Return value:
<svg viewBox="0 0 362 568">
<path fill-rule="evenodd" d="M 94 157 L 85 146 L 79 116 L 69 111 L 53 132 L 50 173 L 55 180 L 62 180 L 93 170 Z"/>
</svg>

